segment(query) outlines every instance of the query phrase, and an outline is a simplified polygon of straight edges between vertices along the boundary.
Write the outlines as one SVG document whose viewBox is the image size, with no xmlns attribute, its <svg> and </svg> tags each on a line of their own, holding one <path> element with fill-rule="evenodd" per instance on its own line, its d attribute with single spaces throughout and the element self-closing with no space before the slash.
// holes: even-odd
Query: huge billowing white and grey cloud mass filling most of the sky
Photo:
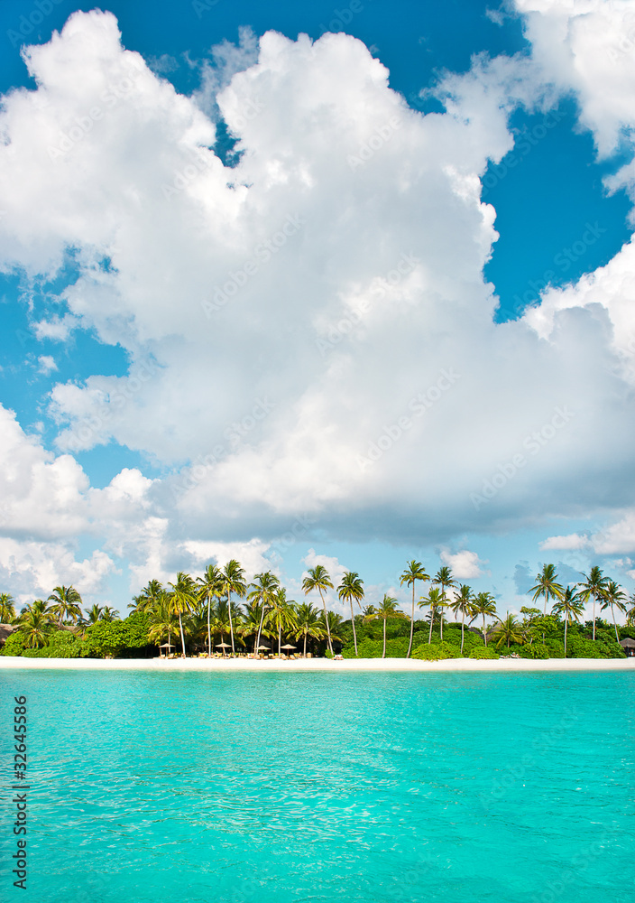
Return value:
<svg viewBox="0 0 635 903">
<path fill-rule="evenodd" d="M 602 153 L 631 121 L 623 92 L 601 115 L 569 59 L 592 66 L 612 25 L 591 42 L 574 5 L 565 51 L 547 25 L 568 14 L 519 8 L 533 57 L 448 73 L 427 116 L 343 33 L 244 34 L 206 100 L 124 50 L 112 14 L 25 51 L 37 88 L 0 113 L 2 265 L 69 267 L 38 335 L 90 330 L 130 368 L 52 388 L 62 453 L 21 438 L 5 459 L 29 475 L 15 535 L 99 535 L 139 582 L 230 548 L 261 567 L 281 535 L 449 544 L 635 504 L 631 246 L 520 321 L 493 322 L 483 280 L 498 235 L 480 180 L 513 110 L 573 88 Z M 212 96 L 234 167 L 210 150 Z M 164 476 L 90 489 L 72 453 L 108 442 Z"/>
</svg>

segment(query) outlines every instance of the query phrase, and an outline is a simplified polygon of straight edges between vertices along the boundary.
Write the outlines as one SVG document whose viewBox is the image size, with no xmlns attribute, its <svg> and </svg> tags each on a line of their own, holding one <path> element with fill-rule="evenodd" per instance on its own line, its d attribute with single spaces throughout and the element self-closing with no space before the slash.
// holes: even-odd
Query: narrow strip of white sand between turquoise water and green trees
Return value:
<svg viewBox="0 0 635 903">
<path fill-rule="evenodd" d="M 2 670 L 60 670 L 70 671 L 292 671 L 294 674 L 314 671 L 353 672 L 579 672 L 626 671 L 635 674 L 635 656 L 630 658 L 503 658 L 483 659 L 446 658 L 439 662 L 422 662 L 406 658 L 345 658 L 333 661 L 329 658 L 272 659 L 263 661 L 250 658 L 23 658 L 0 656 Z"/>
</svg>

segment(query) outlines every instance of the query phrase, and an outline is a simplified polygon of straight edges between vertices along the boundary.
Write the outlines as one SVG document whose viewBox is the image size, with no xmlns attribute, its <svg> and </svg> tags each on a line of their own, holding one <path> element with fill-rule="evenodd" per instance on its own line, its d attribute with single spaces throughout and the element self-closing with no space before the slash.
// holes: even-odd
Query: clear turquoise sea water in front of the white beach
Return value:
<svg viewBox="0 0 635 903">
<path fill-rule="evenodd" d="M 0 681 L 32 787 L 26 892 L 3 807 L 2 900 L 635 898 L 635 675 Z"/>
</svg>

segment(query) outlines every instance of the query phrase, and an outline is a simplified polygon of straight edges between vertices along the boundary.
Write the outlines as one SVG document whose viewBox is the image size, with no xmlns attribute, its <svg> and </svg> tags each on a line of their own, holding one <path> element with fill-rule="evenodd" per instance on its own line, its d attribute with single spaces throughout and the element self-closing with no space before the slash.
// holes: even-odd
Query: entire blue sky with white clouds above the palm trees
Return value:
<svg viewBox="0 0 635 903">
<path fill-rule="evenodd" d="M 2 588 L 631 591 L 634 16 L 6 0 Z"/>
</svg>

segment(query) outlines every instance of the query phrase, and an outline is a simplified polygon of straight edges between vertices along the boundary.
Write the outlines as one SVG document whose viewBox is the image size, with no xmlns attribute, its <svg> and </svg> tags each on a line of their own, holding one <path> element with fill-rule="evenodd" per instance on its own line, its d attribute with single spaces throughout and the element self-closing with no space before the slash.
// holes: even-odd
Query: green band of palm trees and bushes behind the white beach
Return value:
<svg viewBox="0 0 635 903">
<path fill-rule="evenodd" d="M 334 586 L 323 565 L 309 569 L 302 590 L 305 597 L 319 598 L 320 604 L 314 605 L 288 599 L 271 571 L 256 574 L 248 583 L 244 568 L 233 559 L 223 567 L 209 564 L 197 578 L 179 572 L 167 587 L 151 580 L 133 597 L 125 619 L 107 606 L 82 610 L 72 586 L 55 587 L 47 600 L 34 600 L 19 613 L 12 596 L 1 593 L 0 655 L 420 661 L 632 656 L 635 597 L 628 599 L 597 566 L 582 576 L 582 582 L 565 587 L 557 582 L 555 566 L 545 564 L 529 591 L 533 604 L 521 607 L 520 617 L 509 611 L 502 617 L 491 593 L 474 593 L 446 566 L 431 577 L 420 562 L 408 563 L 400 576 L 400 584 L 411 591 L 410 612 L 405 612 L 388 594 L 375 604 L 363 604 L 364 581 L 355 572 L 346 571 Z M 417 600 L 417 589 L 427 583 L 428 592 Z M 350 619 L 328 609 L 329 592 L 350 608 Z M 589 602 L 593 618 L 583 623 Z M 421 610 L 425 615 L 418 619 Z M 625 626 L 617 624 L 616 610 L 626 615 Z M 612 622 L 602 617 L 609 611 Z"/>
</svg>

